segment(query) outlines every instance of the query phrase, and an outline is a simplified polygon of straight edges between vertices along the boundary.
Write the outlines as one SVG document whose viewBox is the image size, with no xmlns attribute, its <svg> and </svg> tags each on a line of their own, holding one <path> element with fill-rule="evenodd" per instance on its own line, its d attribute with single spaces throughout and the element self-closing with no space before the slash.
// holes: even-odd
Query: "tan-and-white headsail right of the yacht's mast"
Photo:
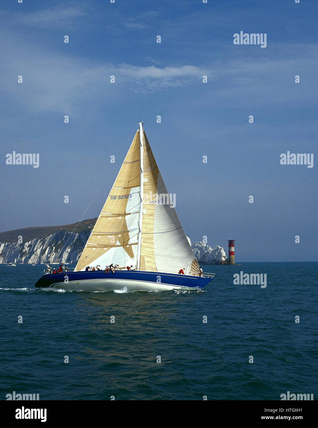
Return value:
<svg viewBox="0 0 318 428">
<path fill-rule="evenodd" d="M 196 261 L 143 133 L 143 229 L 140 270 L 198 275 Z"/>
</svg>

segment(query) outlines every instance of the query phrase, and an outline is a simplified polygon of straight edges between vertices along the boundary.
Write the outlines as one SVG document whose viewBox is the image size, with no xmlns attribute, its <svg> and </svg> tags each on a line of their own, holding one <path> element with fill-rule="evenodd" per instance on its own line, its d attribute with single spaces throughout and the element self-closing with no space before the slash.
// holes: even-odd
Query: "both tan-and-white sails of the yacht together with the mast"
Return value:
<svg viewBox="0 0 318 428">
<path fill-rule="evenodd" d="M 160 175 L 142 122 L 75 271 L 111 263 L 198 275 L 187 237 Z"/>
</svg>

